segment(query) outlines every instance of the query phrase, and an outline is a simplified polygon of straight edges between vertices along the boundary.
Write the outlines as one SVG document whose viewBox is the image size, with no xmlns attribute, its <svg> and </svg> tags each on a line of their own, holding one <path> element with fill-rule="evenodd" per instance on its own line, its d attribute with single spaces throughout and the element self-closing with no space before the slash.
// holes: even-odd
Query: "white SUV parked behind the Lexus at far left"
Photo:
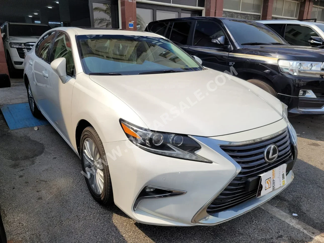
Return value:
<svg viewBox="0 0 324 243">
<path fill-rule="evenodd" d="M 0 29 L 9 74 L 12 75 L 16 69 L 24 69 L 25 54 L 51 27 L 44 24 L 5 22 Z"/>
</svg>

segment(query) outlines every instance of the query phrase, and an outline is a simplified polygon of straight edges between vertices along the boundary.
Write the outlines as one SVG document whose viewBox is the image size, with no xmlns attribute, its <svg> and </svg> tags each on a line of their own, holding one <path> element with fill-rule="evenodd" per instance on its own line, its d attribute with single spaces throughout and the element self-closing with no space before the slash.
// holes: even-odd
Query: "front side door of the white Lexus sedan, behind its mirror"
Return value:
<svg viewBox="0 0 324 243">
<path fill-rule="evenodd" d="M 62 82 L 59 76 L 51 68 L 51 62 L 57 58 L 64 57 L 66 60 L 66 74 L 68 79 Z M 75 83 L 74 59 L 71 41 L 67 33 L 58 31 L 52 43 L 49 62 L 45 67 L 48 78 L 44 80 L 43 92 L 46 104 L 45 114 L 48 116 L 52 125 L 61 133 L 67 142 L 71 142 L 71 102 L 72 91 Z"/>
</svg>

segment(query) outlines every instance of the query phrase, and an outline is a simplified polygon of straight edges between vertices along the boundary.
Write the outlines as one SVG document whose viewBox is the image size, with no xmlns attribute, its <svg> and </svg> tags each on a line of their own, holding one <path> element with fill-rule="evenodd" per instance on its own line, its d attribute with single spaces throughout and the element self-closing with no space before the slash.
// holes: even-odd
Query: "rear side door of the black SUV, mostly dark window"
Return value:
<svg viewBox="0 0 324 243">
<path fill-rule="evenodd" d="M 173 41 L 184 51 L 187 51 L 193 22 L 194 21 L 170 22 L 165 37 Z"/>
</svg>

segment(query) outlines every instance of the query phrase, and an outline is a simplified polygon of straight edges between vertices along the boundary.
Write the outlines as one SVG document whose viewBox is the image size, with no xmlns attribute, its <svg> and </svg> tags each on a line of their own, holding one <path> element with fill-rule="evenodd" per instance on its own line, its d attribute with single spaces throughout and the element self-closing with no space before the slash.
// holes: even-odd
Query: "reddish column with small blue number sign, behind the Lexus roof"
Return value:
<svg viewBox="0 0 324 243">
<path fill-rule="evenodd" d="M 136 30 L 136 0 L 119 0 L 121 6 L 121 29 Z M 133 28 L 129 28 L 133 23 Z"/>
</svg>

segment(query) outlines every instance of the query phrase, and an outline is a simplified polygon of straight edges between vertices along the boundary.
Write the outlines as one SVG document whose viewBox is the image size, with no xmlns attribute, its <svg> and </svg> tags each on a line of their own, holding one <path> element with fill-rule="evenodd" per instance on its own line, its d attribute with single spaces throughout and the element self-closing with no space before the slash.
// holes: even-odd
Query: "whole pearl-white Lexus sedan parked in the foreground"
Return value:
<svg viewBox="0 0 324 243">
<path fill-rule="evenodd" d="M 219 224 L 294 178 L 285 105 L 159 35 L 52 29 L 26 55 L 24 80 L 31 112 L 81 158 L 94 199 L 137 222 Z"/>
</svg>

